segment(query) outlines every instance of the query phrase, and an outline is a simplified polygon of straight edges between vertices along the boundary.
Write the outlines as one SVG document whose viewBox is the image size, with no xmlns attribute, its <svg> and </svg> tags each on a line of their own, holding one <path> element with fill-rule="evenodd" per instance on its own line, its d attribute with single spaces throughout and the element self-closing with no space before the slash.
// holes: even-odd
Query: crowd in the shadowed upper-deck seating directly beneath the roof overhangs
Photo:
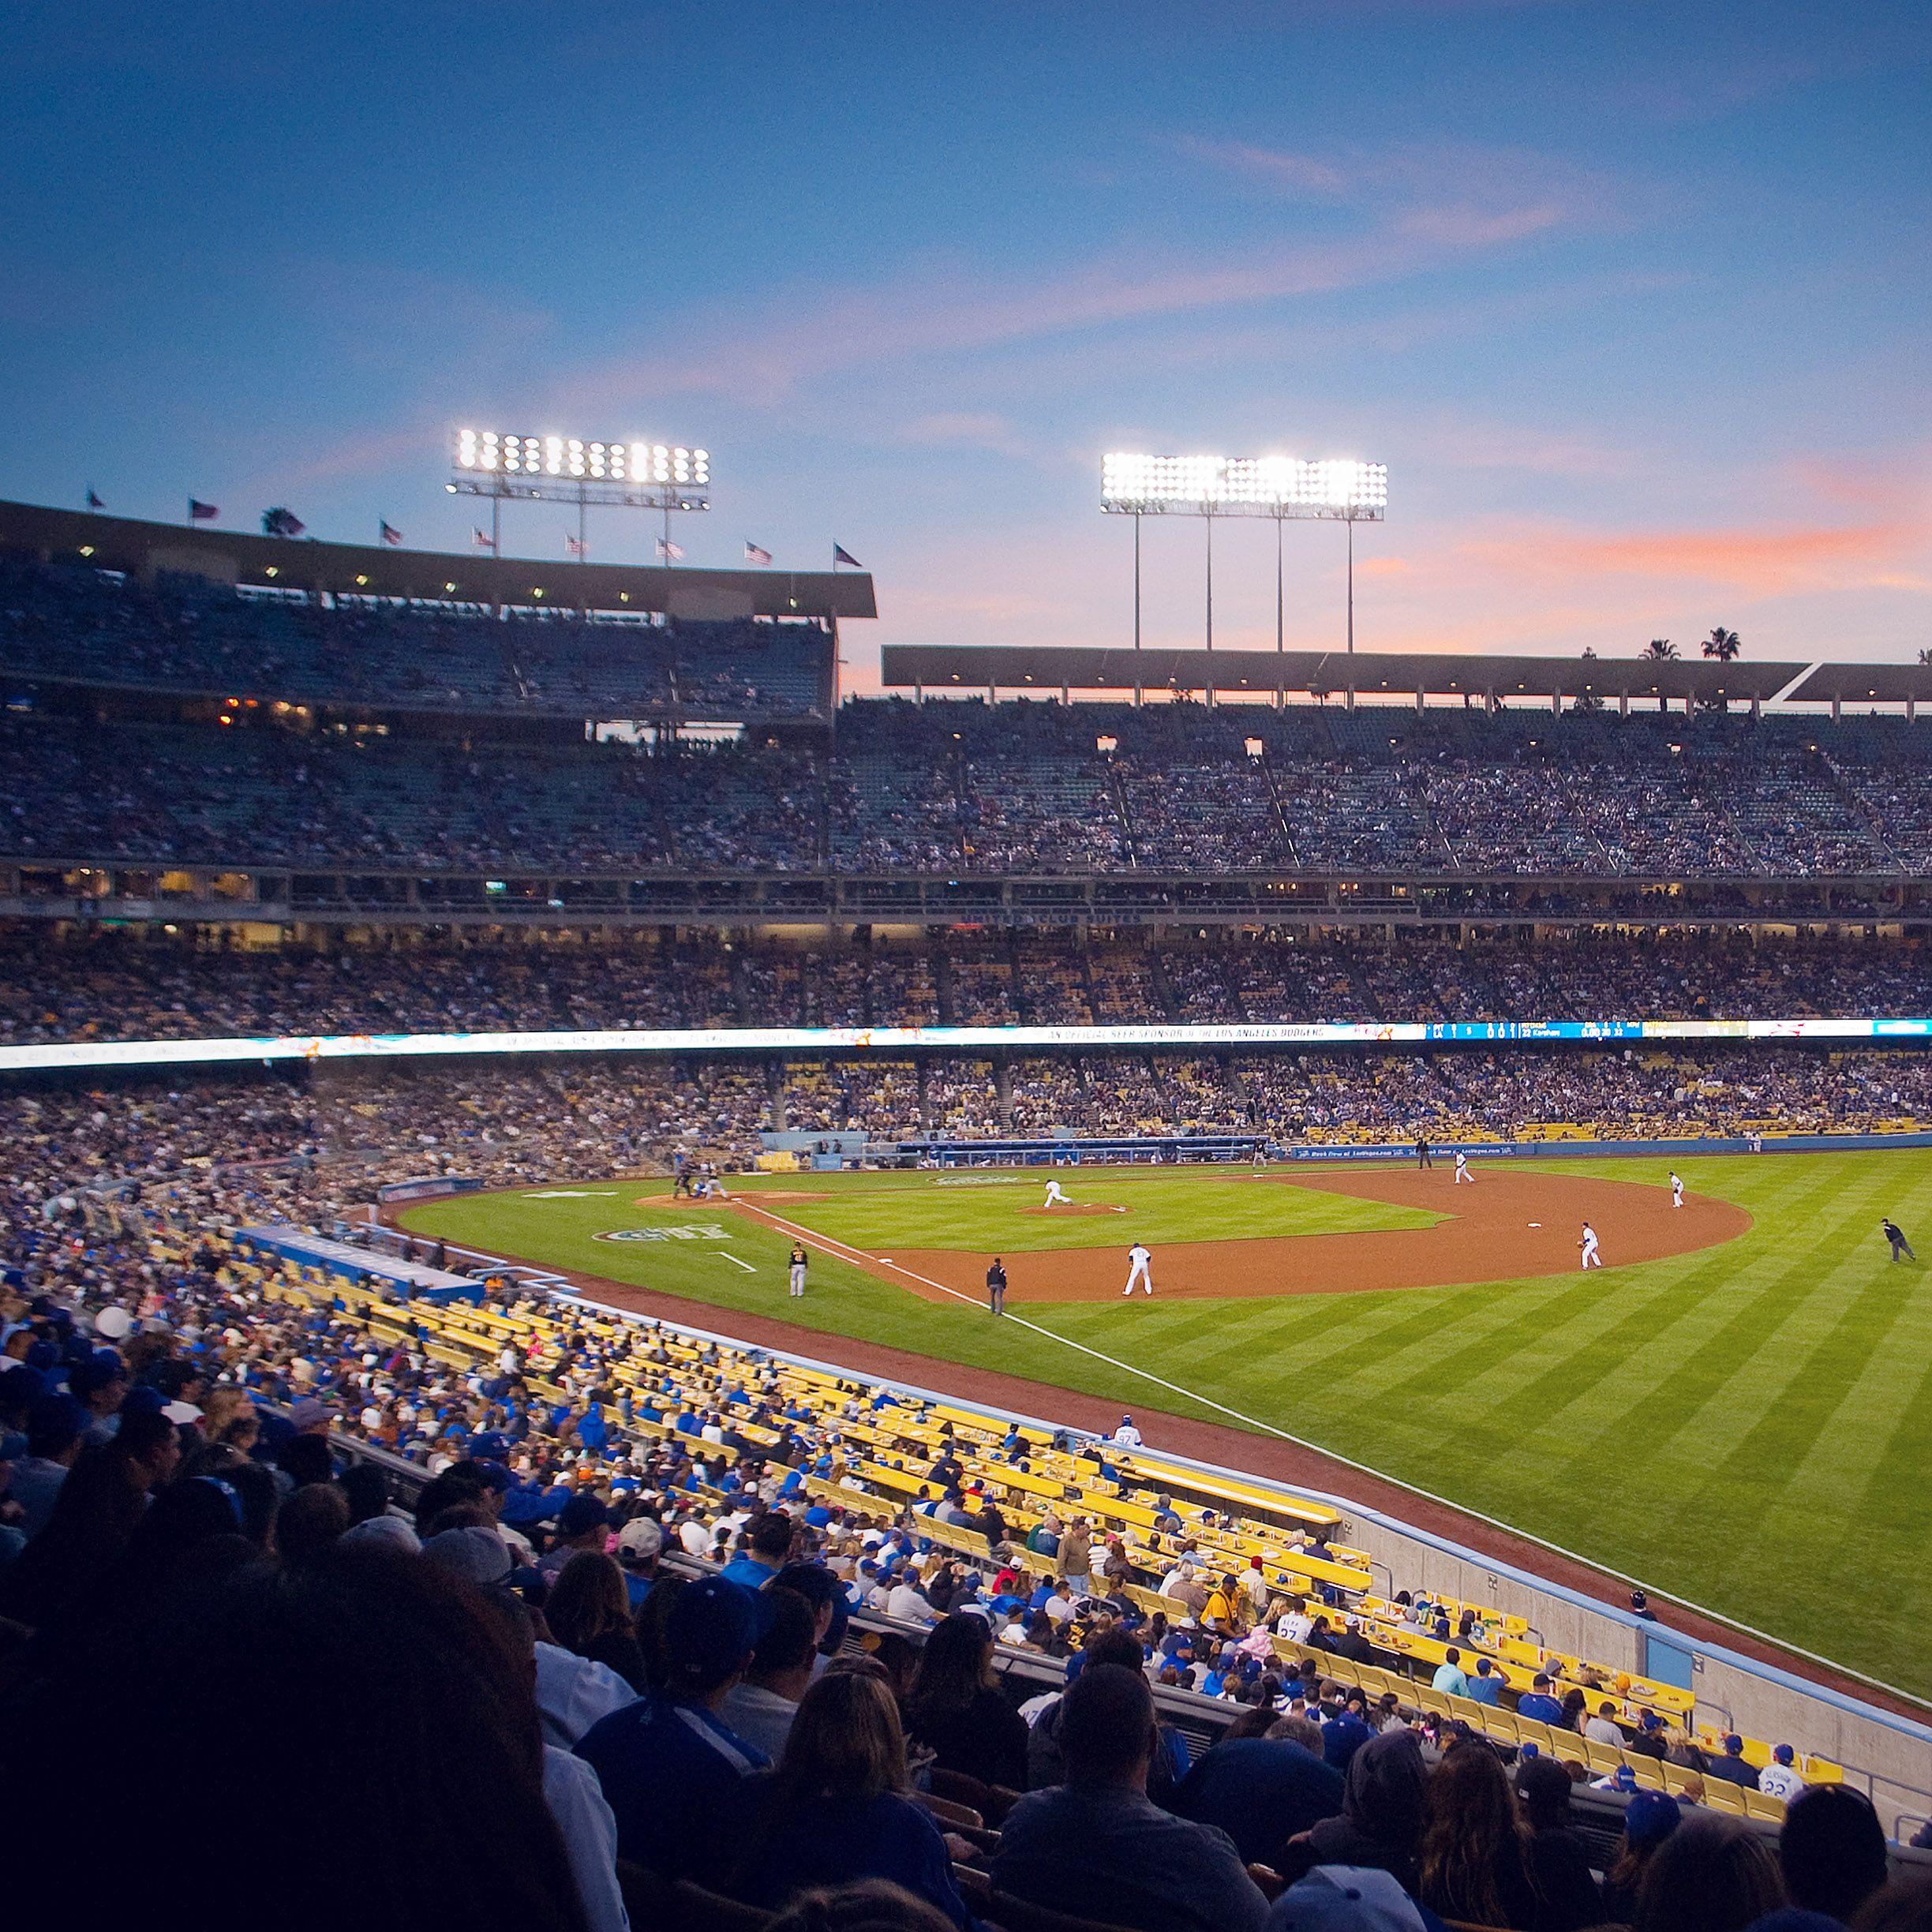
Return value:
<svg viewBox="0 0 1932 1932">
<path fill-rule="evenodd" d="M 898 699 L 829 715 L 831 649 L 806 624 L 319 609 L 0 564 L 0 672 L 23 694 L 0 730 L 4 856 L 1710 881 L 1888 875 L 1932 852 L 1932 761 L 1893 719 Z M 180 715 L 116 721 L 133 688 Z M 655 757 L 539 750 L 510 723 L 680 713 L 752 730 L 724 755 Z M 773 738 L 806 719 L 813 750 Z"/>
</svg>

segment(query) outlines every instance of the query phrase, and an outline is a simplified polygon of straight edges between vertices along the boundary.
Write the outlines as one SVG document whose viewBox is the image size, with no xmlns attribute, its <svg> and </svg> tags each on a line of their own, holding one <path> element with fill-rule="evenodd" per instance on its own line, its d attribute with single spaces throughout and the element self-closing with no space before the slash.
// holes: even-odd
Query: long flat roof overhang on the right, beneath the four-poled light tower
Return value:
<svg viewBox="0 0 1932 1932">
<path fill-rule="evenodd" d="M 1847 667 L 1835 667 L 1847 668 Z M 1870 668 L 1870 667 L 1866 667 Z M 887 690 L 1221 692 L 1358 697 L 1627 697 L 1750 703 L 1785 694 L 1804 665 L 1644 657 L 1455 657 L 1439 651 L 1109 651 L 889 643 Z M 1932 678 L 1932 672 L 1920 672 Z M 1861 670 L 1861 680 L 1864 670 Z M 1859 688 L 1862 696 L 1862 682 Z M 1799 694 L 1791 694 L 1799 696 Z M 1824 696 L 1830 696 L 1826 692 Z M 1845 696 L 1853 696 L 1847 688 Z M 1918 696 L 1932 696 L 1928 684 Z"/>
</svg>

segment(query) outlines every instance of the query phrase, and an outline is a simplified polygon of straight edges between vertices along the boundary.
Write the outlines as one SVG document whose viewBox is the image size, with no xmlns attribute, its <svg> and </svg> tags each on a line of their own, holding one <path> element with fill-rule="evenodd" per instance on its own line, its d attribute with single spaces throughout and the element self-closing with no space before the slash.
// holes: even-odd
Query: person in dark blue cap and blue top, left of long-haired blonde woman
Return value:
<svg viewBox="0 0 1932 1932">
<path fill-rule="evenodd" d="M 719 1712 L 769 1615 L 761 1594 L 723 1577 L 686 1584 L 665 1619 L 665 1689 L 612 1712 L 578 1743 L 616 1816 L 620 1857 L 665 1878 L 723 1880 L 740 1781 L 771 1760 Z"/>
</svg>

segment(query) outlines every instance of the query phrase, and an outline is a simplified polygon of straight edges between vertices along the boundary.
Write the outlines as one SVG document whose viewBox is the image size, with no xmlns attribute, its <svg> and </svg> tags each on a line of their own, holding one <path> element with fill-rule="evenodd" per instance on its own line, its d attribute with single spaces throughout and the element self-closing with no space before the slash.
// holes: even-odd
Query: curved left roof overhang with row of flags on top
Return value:
<svg viewBox="0 0 1932 1932">
<path fill-rule="evenodd" d="M 128 516 L 0 502 L 0 553 L 87 562 L 149 580 L 158 572 L 257 589 L 423 603 L 554 605 L 670 616 L 877 616 L 866 570 L 684 570 L 665 564 L 560 564 L 518 556 L 456 556 L 384 545 L 257 537 L 205 524 L 143 524 Z"/>
</svg>

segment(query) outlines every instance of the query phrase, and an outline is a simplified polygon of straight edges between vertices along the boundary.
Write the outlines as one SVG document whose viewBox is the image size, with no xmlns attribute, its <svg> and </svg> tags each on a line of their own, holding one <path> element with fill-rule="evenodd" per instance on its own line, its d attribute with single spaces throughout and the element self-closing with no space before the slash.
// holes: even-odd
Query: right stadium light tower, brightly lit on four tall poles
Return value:
<svg viewBox="0 0 1932 1932">
<path fill-rule="evenodd" d="M 1275 520 L 1275 649 L 1283 649 L 1281 526 L 1349 526 L 1349 649 L 1354 651 L 1354 526 L 1379 524 L 1389 504 L 1383 464 L 1354 458 L 1304 462 L 1296 456 L 1134 456 L 1101 460 L 1099 506 L 1134 520 L 1134 649 L 1140 649 L 1140 520 L 1198 516 L 1208 522 L 1208 649 L 1213 649 L 1213 520 Z"/>
</svg>

